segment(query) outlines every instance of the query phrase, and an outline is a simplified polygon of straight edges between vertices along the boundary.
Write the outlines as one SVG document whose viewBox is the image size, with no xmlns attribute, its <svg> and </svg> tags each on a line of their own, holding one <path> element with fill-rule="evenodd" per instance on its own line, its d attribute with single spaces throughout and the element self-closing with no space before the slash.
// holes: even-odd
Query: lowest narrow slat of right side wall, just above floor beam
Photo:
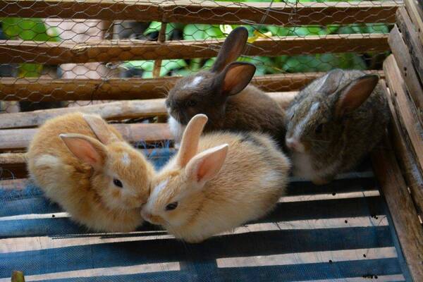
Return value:
<svg viewBox="0 0 423 282">
<path fill-rule="evenodd" d="M 384 82 L 382 82 L 384 84 Z M 393 149 L 395 151 L 398 164 L 403 171 L 403 177 L 410 188 L 412 200 L 415 203 L 417 214 L 423 216 L 423 171 L 417 162 L 417 157 L 411 148 L 410 138 L 407 137 L 405 129 L 400 124 L 398 113 L 396 112 L 391 97 L 391 92 L 385 86 L 382 88 L 388 98 L 389 109 L 391 111 L 391 124 L 389 133 Z"/>
</svg>

